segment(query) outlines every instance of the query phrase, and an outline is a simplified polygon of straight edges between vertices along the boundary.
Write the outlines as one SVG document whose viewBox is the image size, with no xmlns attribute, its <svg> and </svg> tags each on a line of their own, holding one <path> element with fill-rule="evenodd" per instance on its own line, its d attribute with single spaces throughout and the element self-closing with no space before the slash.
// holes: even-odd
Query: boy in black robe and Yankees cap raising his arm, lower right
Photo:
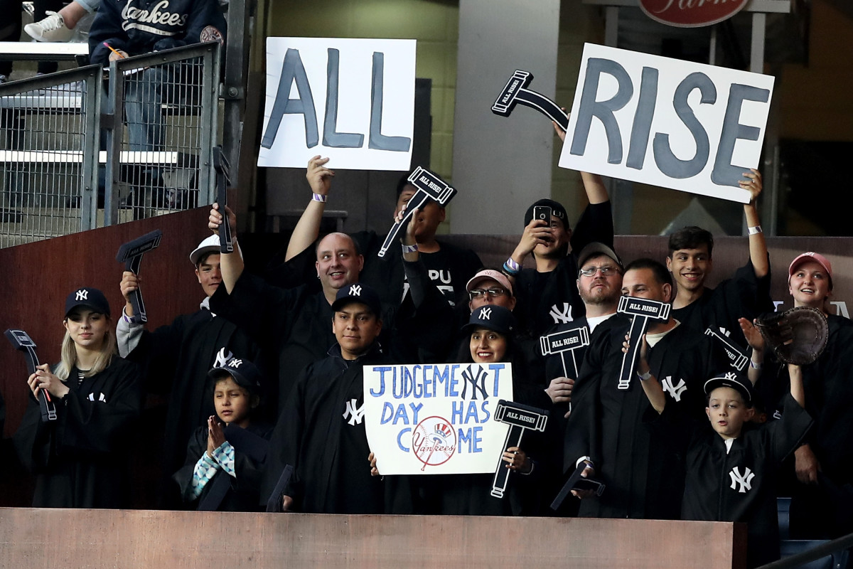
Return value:
<svg viewBox="0 0 853 569">
<path fill-rule="evenodd" d="M 740 521 L 747 527 L 748 567 L 779 559 L 776 477 L 780 463 L 795 450 L 811 426 L 803 408 L 802 372 L 789 365 L 791 393 L 786 395 L 780 421 L 750 422 L 752 385 L 734 372 L 705 381 L 704 421 L 679 416 L 667 405 L 654 377 L 643 390 L 659 418 L 650 421 L 654 436 L 669 438 L 686 457 L 682 520 Z M 686 427 L 685 423 L 690 423 Z"/>
</svg>

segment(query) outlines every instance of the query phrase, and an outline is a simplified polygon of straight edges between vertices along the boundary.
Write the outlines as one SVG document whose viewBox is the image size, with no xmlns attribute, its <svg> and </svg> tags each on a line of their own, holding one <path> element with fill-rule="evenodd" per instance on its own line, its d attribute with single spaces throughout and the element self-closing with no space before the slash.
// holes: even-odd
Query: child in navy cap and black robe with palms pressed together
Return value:
<svg viewBox="0 0 853 569">
<path fill-rule="evenodd" d="M 189 439 L 187 461 L 172 477 L 187 504 L 200 510 L 259 511 L 259 486 L 271 428 L 252 418 L 261 375 L 232 357 L 209 373 L 216 415 Z"/>
</svg>

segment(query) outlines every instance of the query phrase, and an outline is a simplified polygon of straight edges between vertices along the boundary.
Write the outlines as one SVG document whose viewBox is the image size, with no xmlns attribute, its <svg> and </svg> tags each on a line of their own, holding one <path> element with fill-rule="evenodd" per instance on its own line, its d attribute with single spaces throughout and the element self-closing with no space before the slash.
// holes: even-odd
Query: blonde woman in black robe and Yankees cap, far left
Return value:
<svg viewBox="0 0 853 569">
<path fill-rule="evenodd" d="M 15 434 L 21 461 L 36 475 L 32 505 L 121 508 L 130 501 L 125 453 L 142 403 L 139 371 L 116 353 L 100 290 L 70 293 L 62 323 L 61 361 L 30 375 L 32 398 Z M 55 421 L 41 421 L 42 390 L 56 406 Z"/>
</svg>

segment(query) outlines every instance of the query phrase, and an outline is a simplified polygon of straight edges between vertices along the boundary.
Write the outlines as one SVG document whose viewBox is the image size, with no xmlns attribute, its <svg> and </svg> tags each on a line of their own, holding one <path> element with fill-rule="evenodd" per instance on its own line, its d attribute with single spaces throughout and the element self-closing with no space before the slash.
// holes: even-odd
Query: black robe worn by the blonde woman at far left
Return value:
<svg viewBox="0 0 853 569">
<path fill-rule="evenodd" d="M 37 508 L 127 508 L 131 504 L 128 457 L 132 427 L 142 408 L 141 376 L 135 363 L 113 356 L 107 369 L 54 398 L 56 420 L 41 421 L 29 397 L 15 433 L 21 462 L 36 475 Z"/>
</svg>

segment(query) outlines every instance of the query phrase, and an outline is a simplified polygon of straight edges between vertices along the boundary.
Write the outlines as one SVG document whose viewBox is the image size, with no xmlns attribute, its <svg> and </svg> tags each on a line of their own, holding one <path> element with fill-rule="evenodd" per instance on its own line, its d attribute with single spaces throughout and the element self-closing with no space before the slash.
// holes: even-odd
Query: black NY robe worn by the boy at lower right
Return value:
<svg viewBox="0 0 853 569">
<path fill-rule="evenodd" d="M 790 394 L 784 406 L 780 421 L 745 423 L 728 450 L 707 418 L 682 421 L 670 411 L 669 401 L 660 421 L 653 421 L 655 436 L 681 456 L 686 453 L 682 520 L 746 522 L 750 567 L 779 559 L 777 471 L 812 422 Z"/>
</svg>

